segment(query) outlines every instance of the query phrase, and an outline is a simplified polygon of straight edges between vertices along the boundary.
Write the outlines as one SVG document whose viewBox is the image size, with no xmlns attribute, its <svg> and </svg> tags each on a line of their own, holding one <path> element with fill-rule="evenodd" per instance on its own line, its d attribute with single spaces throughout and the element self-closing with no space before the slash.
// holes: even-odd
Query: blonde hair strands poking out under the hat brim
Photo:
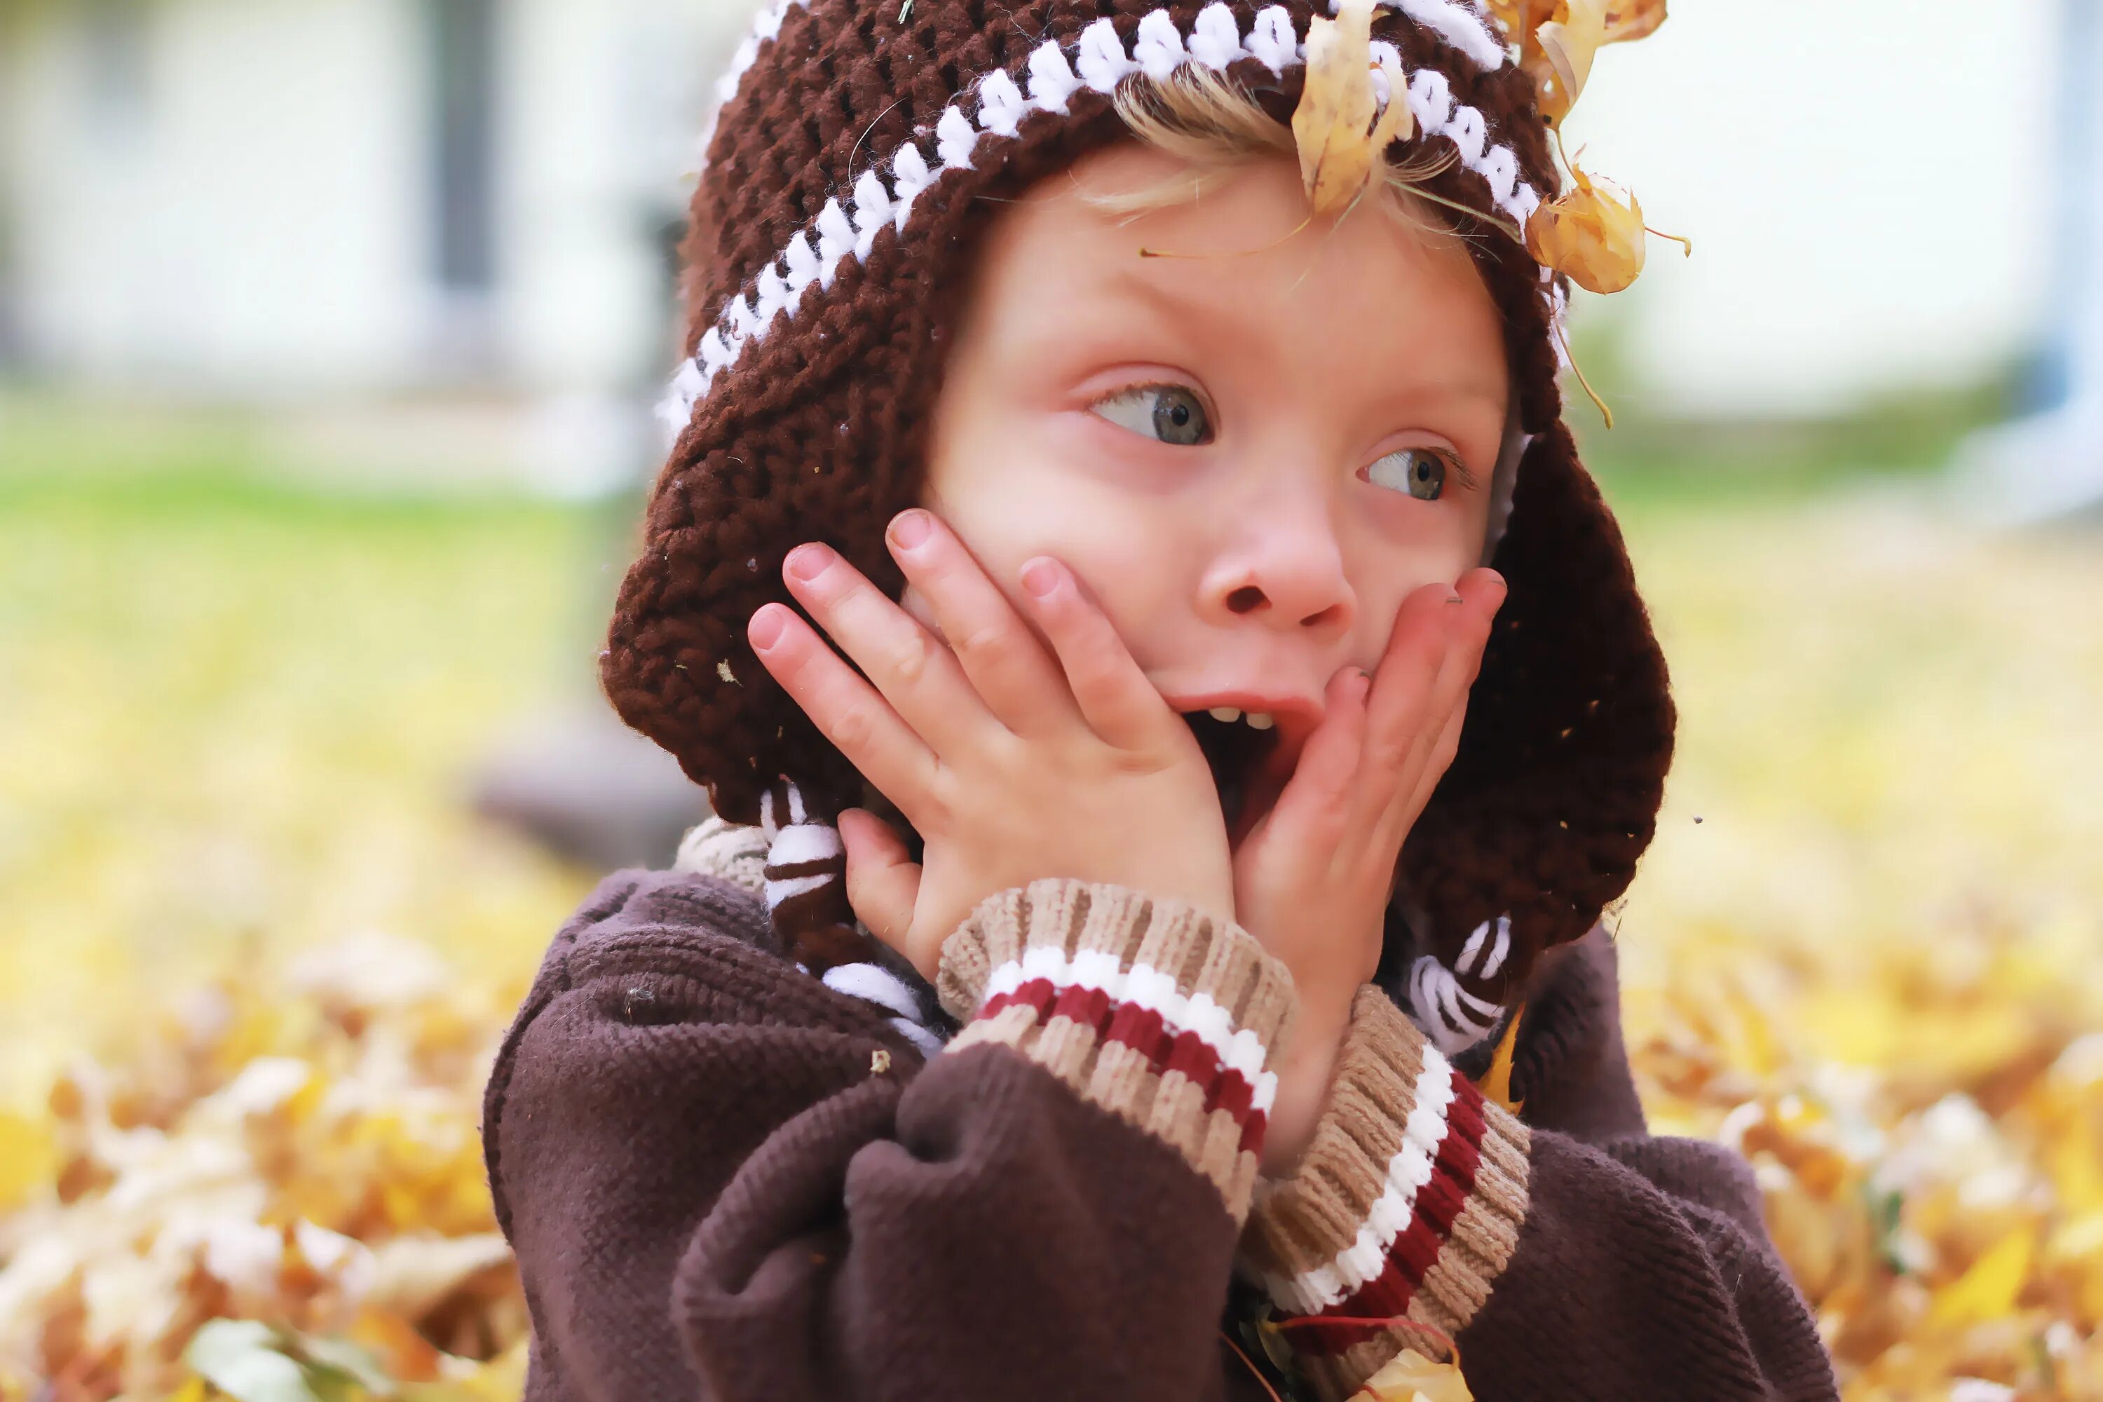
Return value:
<svg viewBox="0 0 2103 1402">
<path fill-rule="evenodd" d="M 1300 160 L 1291 126 L 1270 116 L 1253 92 L 1197 63 L 1178 67 L 1167 78 L 1131 78 L 1117 88 L 1112 103 L 1134 139 L 1186 162 L 1190 170 L 1144 189 L 1089 195 L 1089 204 L 1108 214 L 1146 214 L 1197 200 L 1207 177 L 1251 160 Z M 1388 198 L 1380 204 L 1422 233 L 1468 238 L 1468 229 L 1445 212 L 1445 202 L 1417 189 L 1420 181 L 1451 164 L 1451 153 L 1417 151 L 1403 162 L 1382 153 L 1375 179 Z"/>
</svg>

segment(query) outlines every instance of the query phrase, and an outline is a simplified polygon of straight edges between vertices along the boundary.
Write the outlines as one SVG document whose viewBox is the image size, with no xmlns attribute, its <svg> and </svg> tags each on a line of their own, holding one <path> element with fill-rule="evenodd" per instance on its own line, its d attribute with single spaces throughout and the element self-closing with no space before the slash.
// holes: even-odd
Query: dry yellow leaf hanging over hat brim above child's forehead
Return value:
<svg viewBox="0 0 2103 1402">
<path fill-rule="evenodd" d="M 1373 92 L 1373 0 L 1344 0 L 1335 19 L 1308 21 L 1306 86 L 1293 107 L 1300 181 L 1316 217 L 1350 208 L 1373 179 L 1380 153 L 1415 124 L 1398 69 L 1388 74 L 1388 105 Z"/>
</svg>

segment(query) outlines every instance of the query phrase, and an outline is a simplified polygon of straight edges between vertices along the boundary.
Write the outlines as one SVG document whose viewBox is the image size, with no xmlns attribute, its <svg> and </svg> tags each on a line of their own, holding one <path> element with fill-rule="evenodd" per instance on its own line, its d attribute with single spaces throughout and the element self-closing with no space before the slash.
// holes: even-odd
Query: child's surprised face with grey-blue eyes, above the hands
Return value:
<svg viewBox="0 0 2103 1402">
<path fill-rule="evenodd" d="M 1504 336 L 1459 242 L 1377 191 L 1293 233 L 1287 158 L 1140 217 L 1087 200 L 1186 170 L 1121 143 L 995 221 L 927 504 L 1009 593 L 1070 565 L 1178 710 L 1266 713 L 1298 750 L 1403 597 L 1481 563 Z"/>
</svg>

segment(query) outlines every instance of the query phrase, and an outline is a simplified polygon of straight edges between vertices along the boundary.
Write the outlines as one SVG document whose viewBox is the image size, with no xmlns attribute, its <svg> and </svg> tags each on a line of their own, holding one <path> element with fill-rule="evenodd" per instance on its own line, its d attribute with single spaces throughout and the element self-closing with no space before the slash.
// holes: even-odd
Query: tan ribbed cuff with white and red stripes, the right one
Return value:
<svg viewBox="0 0 2103 1402">
<path fill-rule="evenodd" d="M 1258 1185 L 1243 1257 L 1285 1320 L 1407 1316 L 1449 1337 L 1489 1299 L 1527 1217 L 1527 1127 L 1459 1074 L 1377 988 L 1361 988 L 1329 1110 L 1287 1179 Z M 1287 1335 L 1346 1398 L 1417 1331 L 1302 1324 Z"/>
</svg>

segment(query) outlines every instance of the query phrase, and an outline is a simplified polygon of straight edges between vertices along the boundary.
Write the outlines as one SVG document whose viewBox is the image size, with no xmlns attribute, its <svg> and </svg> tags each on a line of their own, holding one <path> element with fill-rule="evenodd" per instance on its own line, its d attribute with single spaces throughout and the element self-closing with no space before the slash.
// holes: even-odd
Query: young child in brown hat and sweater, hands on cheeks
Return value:
<svg viewBox="0 0 2103 1402">
<path fill-rule="evenodd" d="M 1453 1345 L 1485 1400 L 1836 1396 L 1621 1049 L 1672 704 L 1516 238 L 1535 84 L 1466 0 L 1380 11 L 1407 135 L 1312 217 L 1312 19 L 778 0 L 738 55 L 604 656 L 719 816 L 490 1080 L 530 1398 L 1346 1398 Z"/>
</svg>

